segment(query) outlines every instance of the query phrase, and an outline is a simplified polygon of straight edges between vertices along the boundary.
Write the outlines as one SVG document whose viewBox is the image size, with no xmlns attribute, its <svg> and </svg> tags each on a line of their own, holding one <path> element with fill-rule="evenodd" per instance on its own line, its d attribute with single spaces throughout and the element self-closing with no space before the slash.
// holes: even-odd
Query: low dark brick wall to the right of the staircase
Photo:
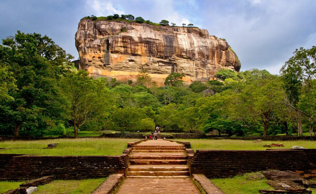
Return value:
<svg viewBox="0 0 316 194">
<path fill-rule="evenodd" d="M 197 150 L 188 163 L 191 174 L 204 174 L 208 178 L 266 169 L 291 170 L 311 178 L 316 176 L 314 155 L 315 149 Z"/>
</svg>

